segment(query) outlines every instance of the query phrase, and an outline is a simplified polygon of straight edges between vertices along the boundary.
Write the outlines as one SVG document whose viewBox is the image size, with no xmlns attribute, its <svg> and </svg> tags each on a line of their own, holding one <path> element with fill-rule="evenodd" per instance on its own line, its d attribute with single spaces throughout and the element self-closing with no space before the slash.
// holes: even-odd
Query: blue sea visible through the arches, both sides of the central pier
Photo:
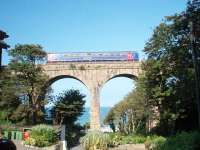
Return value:
<svg viewBox="0 0 200 150">
<path fill-rule="evenodd" d="M 108 114 L 111 107 L 101 107 L 100 108 L 100 117 L 101 117 L 101 123 L 103 123 L 103 120 L 105 116 Z M 90 108 L 86 107 L 84 114 L 79 118 L 78 123 L 81 125 L 84 125 L 86 122 L 90 121 Z"/>
</svg>

